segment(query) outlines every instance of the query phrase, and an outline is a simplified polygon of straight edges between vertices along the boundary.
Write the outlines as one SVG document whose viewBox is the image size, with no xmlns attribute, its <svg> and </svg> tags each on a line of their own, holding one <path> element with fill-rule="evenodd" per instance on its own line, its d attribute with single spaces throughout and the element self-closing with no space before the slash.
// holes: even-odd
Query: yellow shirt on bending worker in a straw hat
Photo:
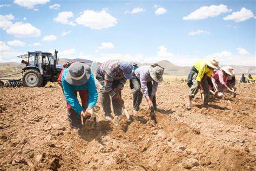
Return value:
<svg viewBox="0 0 256 171">
<path fill-rule="evenodd" d="M 194 68 L 196 68 L 198 71 L 197 81 L 199 81 L 199 82 L 201 82 L 201 80 L 203 79 L 205 74 L 208 77 L 212 76 L 213 70 L 207 68 L 205 60 L 197 61 L 197 63 L 194 65 Z"/>
</svg>

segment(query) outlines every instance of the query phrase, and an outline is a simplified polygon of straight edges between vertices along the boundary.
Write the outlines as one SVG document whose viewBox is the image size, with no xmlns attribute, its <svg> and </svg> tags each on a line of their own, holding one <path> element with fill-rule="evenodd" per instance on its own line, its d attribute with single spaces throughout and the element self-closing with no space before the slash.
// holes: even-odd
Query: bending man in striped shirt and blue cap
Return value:
<svg viewBox="0 0 256 171">
<path fill-rule="evenodd" d="M 122 106 L 124 101 L 121 91 L 124 88 L 126 79 L 132 79 L 132 64 L 123 60 L 109 60 L 97 69 L 96 79 L 102 84 L 100 89 L 100 103 L 102 103 L 105 118 L 112 120 L 110 97 L 112 98 L 112 106 L 114 115 L 122 115 Z"/>
</svg>

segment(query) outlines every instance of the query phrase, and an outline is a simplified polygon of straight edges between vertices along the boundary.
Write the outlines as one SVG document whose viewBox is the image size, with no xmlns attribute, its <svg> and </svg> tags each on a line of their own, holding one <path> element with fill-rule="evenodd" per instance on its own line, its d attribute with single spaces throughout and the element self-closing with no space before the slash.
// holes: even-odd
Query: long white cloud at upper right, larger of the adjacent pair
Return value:
<svg viewBox="0 0 256 171">
<path fill-rule="evenodd" d="M 199 20 L 205 19 L 208 17 L 215 17 L 220 15 L 221 13 L 230 12 L 226 5 L 211 5 L 211 6 L 203 6 L 196 11 L 192 12 L 190 15 L 183 17 L 183 20 Z"/>
</svg>

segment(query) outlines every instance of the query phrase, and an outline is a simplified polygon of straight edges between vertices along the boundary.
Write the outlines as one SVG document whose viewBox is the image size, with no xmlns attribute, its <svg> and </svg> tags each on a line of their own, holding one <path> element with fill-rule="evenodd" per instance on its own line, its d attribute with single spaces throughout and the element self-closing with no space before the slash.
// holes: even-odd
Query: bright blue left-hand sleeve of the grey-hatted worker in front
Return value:
<svg viewBox="0 0 256 171">
<path fill-rule="evenodd" d="M 83 107 L 79 104 L 77 97 L 73 93 L 72 86 L 62 79 L 63 91 L 66 101 L 70 104 L 73 110 L 75 110 L 78 115 L 83 111 Z"/>
</svg>

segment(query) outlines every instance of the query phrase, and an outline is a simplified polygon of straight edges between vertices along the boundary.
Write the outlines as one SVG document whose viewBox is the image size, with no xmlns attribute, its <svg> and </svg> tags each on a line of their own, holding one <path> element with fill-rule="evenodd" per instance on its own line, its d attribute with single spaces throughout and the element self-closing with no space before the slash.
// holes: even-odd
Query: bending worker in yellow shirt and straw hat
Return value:
<svg viewBox="0 0 256 171">
<path fill-rule="evenodd" d="M 190 74 L 188 74 L 187 85 L 190 87 L 188 93 L 188 103 L 186 103 L 186 109 L 191 109 L 191 100 L 197 94 L 198 89 L 200 94 L 204 94 L 204 105 L 208 106 L 208 98 L 210 95 L 207 77 L 211 77 L 214 69 L 220 69 L 219 60 L 216 58 L 199 60 L 191 68 Z"/>
</svg>

